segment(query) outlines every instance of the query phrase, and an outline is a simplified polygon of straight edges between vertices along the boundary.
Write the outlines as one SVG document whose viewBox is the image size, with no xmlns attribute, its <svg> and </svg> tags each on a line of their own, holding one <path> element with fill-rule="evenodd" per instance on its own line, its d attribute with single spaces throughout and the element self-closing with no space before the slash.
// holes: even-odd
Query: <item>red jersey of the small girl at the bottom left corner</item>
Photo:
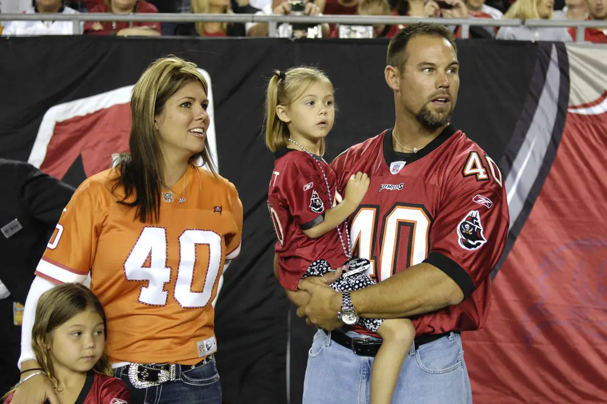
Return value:
<svg viewBox="0 0 607 404">
<path fill-rule="evenodd" d="M 13 394 L 7 397 L 5 404 L 13 400 Z M 124 382 L 112 376 L 90 371 L 74 404 L 129 404 L 131 402 L 131 393 Z"/>
</svg>

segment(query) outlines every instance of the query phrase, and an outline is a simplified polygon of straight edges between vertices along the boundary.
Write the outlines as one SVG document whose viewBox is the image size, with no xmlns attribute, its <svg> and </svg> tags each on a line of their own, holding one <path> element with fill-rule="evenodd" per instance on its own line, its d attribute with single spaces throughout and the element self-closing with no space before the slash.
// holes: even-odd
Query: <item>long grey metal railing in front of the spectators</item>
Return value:
<svg viewBox="0 0 607 404">
<path fill-rule="evenodd" d="M 470 27 L 575 27 L 576 42 L 584 42 L 584 30 L 587 27 L 607 28 L 607 20 L 571 21 L 550 19 L 491 19 L 491 18 L 419 18 L 405 16 L 359 16 L 359 15 L 256 15 L 256 14 L 189 14 L 189 13 L 145 13 L 135 15 L 116 15 L 111 13 L 35 13 L 1 14 L 0 21 L 72 21 L 74 32 L 82 33 L 83 21 L 138 21 L 138 22 L 267 22 L 269 36 L 275 37 L 277 27 L 283 22 L 300 24 L 413 24 L 414 22 L 438 22 L 444 25 L 461 27 L 460 37 L 470 38 Z"/>
</svg>

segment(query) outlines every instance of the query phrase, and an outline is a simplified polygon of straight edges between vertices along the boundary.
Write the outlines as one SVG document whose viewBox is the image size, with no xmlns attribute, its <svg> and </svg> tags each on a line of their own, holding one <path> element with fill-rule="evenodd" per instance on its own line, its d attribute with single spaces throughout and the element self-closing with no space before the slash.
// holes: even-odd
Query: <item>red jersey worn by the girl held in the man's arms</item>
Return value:
<svg viewBox="0 0 607 404">
<path fill-rule="evenodd" d="M 296 290 L 314 260 L 327 260 L 331 268 L 347 261 L 337 230 L 317 239 L 311 239 L 302 231 L 322 222 L 325 210 L 341 202 L 341 196 L 336 189 L 335 173 L 322 157 L 311 157 L 304 151 L 287 148 L 277 151 L 275 156 L 268 209 L 278 237 L 275 250 L 279 259 L 279 281 L 283 288 Z M 331 198 L 319 165 L 327 176 Z M 339 228 L 347 248 L 345 222 Z"/>
</svg>

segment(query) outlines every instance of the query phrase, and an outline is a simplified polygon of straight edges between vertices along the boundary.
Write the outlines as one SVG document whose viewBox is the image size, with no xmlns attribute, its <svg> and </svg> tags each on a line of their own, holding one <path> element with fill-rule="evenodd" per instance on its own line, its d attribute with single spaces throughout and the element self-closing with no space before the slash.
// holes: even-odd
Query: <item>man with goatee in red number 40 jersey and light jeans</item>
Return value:
<svg viewBox="0 0 607 404">
<path fill-rule="evenodd" d="M 339 190 L 352 173 L 371 179 L 350 217 L 350 237 L 354 255 L 371 261 L 370 276 L 379 283 L 337 293 L 310 277 L 300 291 L 287 292 L 299 316 L 322 328 L 310 349 L 304 404 L 368 402 L 381 340 L 346 325 L 356 317 L 413 320 L 416 339 L 394 403 L 472 402 L 460 333 L 486 319 L 490 273 L 509 214 L 497 165 L 449 123 L 458 70 L 447 28 L 406 27 L 388 45 L 384 72 L 394 92 L 395 126 L 331 164 Z"/>
</svg>

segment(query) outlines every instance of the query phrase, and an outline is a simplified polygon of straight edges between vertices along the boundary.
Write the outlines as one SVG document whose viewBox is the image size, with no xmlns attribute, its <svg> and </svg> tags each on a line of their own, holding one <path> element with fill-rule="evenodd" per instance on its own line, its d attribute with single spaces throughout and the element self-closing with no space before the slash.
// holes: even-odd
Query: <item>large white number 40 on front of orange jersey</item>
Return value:
<svg viewBox="0 0 607 404">
<path fill-rule="evenodd" d="M 202 291 L 192 291 L 197 257 L 197 245 L 208 247 L 208 266 Z M 222 237 L 210 230 L 189 229 L 179 236 L 179 265 L 173 288 L 173 298 L 183 308 L 202 308 L 211 303 L 222 262 Z M 198 251 L 203 250 L 199 249 Z M 131 253 L 124 261 L 126 280 L 147 282 L 141 286 L 139 302 L 164 306 L 169 293 L 164 285 L 171 282 L 171 268 L 166 266 L 168 240 L 164 227 L 144 227 Z M 149 258 L 149 267 L 144 267 Z"/>
</svg>

